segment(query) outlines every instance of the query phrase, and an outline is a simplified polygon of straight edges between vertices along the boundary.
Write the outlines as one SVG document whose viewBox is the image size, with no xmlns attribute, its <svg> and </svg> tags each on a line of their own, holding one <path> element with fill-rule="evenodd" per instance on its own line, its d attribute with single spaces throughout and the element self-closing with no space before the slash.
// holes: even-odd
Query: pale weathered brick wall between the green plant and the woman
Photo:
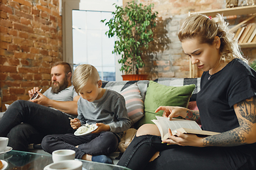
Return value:
<svg viewBox="0 0 256 170">
<path fill-rule="evenodd" d="M 131 0 L 124 0 L 124 3 L 127 1 Z M 178 40 L 178 29 L 188 16 L 189 11 L 225 8 L 225 0 L 139 0 L 138 2 L 145 5 L 154 4 L 154 11 L 159 12 L 159 21 L 154 32 L 158 36 L 159 42 L 154 42 L 149 48 L 150 50 L 144 54 L 146 67 L 140 69 L 140 73 L 149 74 L 149 79 L 189 77 L 189 60 L 183 54 L 181 42 Z M 230 19 L 228 22 L 231 26 L 244 19 Z M 256 18 L 251 22 L 256 22 Z M 250 62 L 256 59 L 256 48 L 245 48 L 242 49 L 242 52 L 245 57 L 250 58 Z"/>
</svg>

